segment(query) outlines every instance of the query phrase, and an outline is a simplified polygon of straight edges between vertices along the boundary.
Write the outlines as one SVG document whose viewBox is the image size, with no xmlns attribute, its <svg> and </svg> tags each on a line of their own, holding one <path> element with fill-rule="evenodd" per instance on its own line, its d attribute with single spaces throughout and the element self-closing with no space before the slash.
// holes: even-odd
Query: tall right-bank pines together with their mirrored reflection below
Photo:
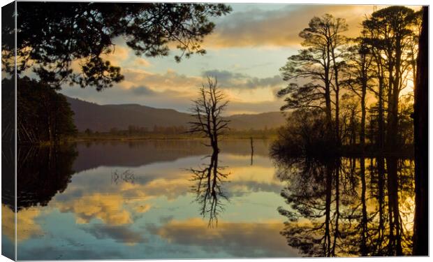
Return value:
<svg viewBox="0 0 433 262">
<path fill-rule="evenodd" d="M 272 145 L 290 180 L 281 234 L 302 254 L 428 255 L 427 17 L 427 7 L 376 10 L 354 39 L 344 20 L 314 17 L 281 68 L 291 110 Z M 408 152 L 414 166 L 395 158 Z"/>
</svg>

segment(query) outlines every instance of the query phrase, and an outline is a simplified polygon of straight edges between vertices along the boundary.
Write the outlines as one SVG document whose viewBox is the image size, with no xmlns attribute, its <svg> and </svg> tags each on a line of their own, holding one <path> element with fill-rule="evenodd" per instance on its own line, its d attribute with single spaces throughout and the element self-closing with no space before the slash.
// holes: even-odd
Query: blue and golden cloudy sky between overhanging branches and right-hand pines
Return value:
<svg viewBox="0 0 433 262">
<path fill-rule="evenodd" d="M 137 57 L 122 38 L 105 58 L 121 66 L 124 81 L 97 92 L 65 85 L 62 94 L 98 104 L 138 103 L 187 112 L 206 75 L 216 76 L 228 96 L 227 115 L 277 111 L 284 104 L 275 95 L 286 86 L 279 68 L 301 48 L 299 32 L 314 16 L 330 13 L 346 19 L 346 36 L 357 36 L 360 22 L 374 6 L 230 4 L 233 11 L 213 21 L 205 37 L 207 54 L 175 61 L 168 57 Z M 376 7 L 381 8 L 381 7 Z"/>
</svg>

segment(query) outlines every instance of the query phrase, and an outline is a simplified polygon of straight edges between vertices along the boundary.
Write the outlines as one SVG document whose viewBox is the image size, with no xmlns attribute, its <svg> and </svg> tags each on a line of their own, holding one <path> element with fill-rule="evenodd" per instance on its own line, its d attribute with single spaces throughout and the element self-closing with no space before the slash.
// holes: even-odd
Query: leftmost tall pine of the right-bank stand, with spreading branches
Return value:
<svg viewBox="0 0 433 262">
<path fill-rule="evenodd" d="M 339 143 L 339 71 L 344 65 L 346 42 L 342 32 L 347 24 L 342 18 L 330 14 L 313 17 L 309 27 L 303 29 L 299 36 L 303 38 L 298 54 L 288 57 L 285 66 L 280 68 L 285 81 L 304 80 L 302 86 L 289 82 L 281 89 L 278 96 L 286 96 L 286 105 L 281 110 L 296 108 L 320 108 L 325 111 L 328 124 L 328 139 Z M 332 99 L 332 91 L 334 99 Z M 335 126 L 332 124 L 332 104 L 335 110 Z"/>
</svg>

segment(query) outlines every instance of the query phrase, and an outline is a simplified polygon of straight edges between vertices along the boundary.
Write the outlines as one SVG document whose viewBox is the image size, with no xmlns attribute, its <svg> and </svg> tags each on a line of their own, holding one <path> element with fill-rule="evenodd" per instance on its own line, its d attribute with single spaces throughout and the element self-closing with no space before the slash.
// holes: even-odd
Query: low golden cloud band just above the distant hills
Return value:
<svg viewBox="0 0 433 262">
<path fill-rule="evenodd" d="M 140 68 L 124 68 L 125 80 L 103 92 L 92 88 L 65 87 L 62 94 L 98 104 L 138 103 L 155 108 L 172 108 L 187 112 L 191 100 L 207 75 L 216 76 L 219 87 L 228 96 L 228 115 L 277 111 L 281 103 L 276 99 L 276 89 L 284 86 L 281 76 L 258 78 L 247 73 L 210 69 L 200 75 L 185 75 L 173 70 L 152 73 Z"/>
</svg>

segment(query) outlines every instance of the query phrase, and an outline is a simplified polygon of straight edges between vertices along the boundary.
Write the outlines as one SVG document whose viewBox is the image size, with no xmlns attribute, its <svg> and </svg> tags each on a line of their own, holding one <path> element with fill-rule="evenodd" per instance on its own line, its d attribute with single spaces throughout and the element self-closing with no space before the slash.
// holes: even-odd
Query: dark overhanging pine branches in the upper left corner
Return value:
<svg viewBox="0 0 433 262">
<path fill-rule="evenodd" d="M 114 38 L 124 38 L 135 54 L 148 57 L 166 56 L 175 44 L 180 61 L 205 53 L 200 43 L 214 29 L 210 17 L 230 10 L 206 3 L 19 2 L 17 73 L 31 67 L 55 88 L 68 82 L 101 90 L 124 78 L 119 67 L 101 57 L 115 51 Z M 2 37 L 14 34 L 15 24 L 4 24 Z M 13 73 L 15 45 L 8 43 L 2 43 L 3 68 Z M 80 61 L 80 72 L 71 68 L 73 61 Z"/>
</svg>

